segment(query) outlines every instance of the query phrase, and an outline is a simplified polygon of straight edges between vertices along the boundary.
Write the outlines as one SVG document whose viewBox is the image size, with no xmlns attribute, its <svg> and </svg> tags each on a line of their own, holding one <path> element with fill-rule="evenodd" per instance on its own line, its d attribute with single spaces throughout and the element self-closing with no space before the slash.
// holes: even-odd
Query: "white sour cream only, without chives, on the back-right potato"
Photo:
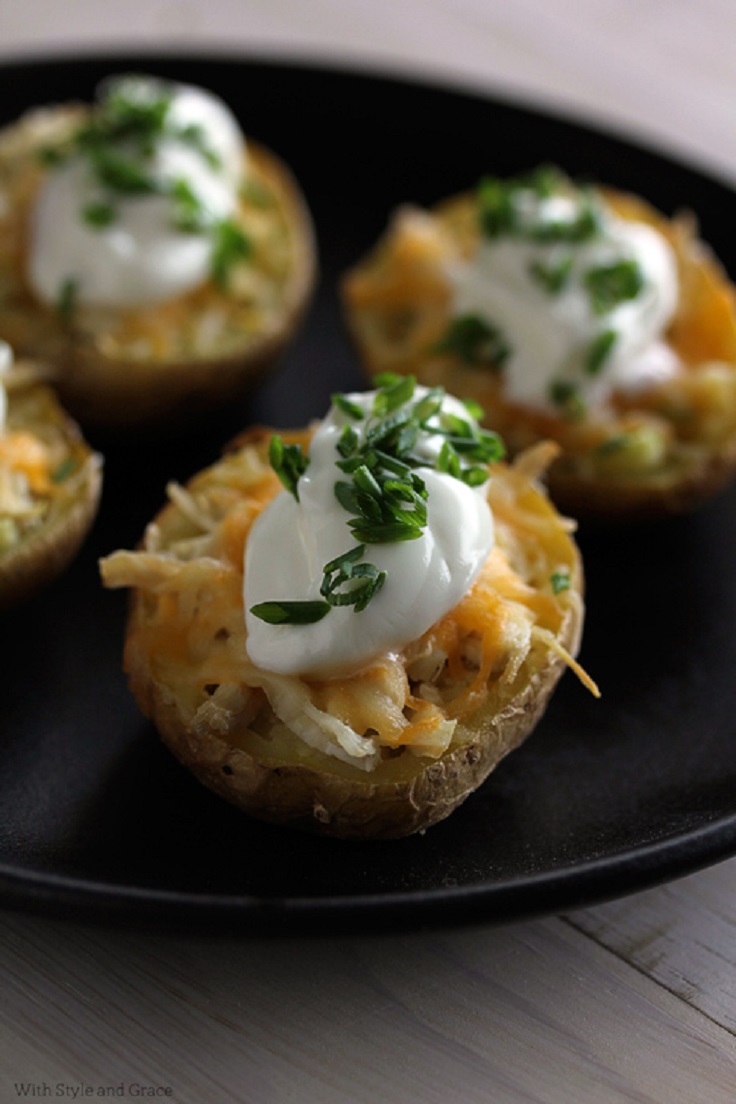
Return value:
<svg viewBox="0 0 736 1104">
<path fill-rule="evenodd" d="M 565 197 L 536 200 L 524 192 L 522 202 L 533 220 L 574 217 L 574 201 Z M 678 371 L 678 359 L 662 340 L 678 304 L 673 252 L 654 229 L 609 211 L 599 214 L 600 227 L 588 240 L 540 243 L 500 234 L 483 238 L 476 255 L 452 270 L 452 314 L 479 316 L 509 350 L 503 380 L 511 402 L 555 412 L 552 388 L 568 383 L 586 407 L 598 406 L 614 390 L 642 390 Z M 621 262 L 639 266 L 641 290 L 596 314 L 586 273 Z M 563 288 L 551 293 L 533 275 L 538 266 L 547 272 L 567 266 Z M 610 352 L 599 371 L 586 370 L 589 350 L 606 331 L 616 332 Z"/>
</svg>

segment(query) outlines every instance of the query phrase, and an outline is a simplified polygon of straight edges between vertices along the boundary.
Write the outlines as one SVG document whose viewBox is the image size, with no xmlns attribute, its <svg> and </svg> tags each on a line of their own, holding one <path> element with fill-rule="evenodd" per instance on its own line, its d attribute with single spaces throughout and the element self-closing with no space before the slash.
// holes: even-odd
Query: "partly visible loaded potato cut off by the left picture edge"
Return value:
<svg viewBox="0 0 736 1104">
<path fill-rule="evenodd" d="M 3 386 L 4 384 L 4 386 Z M 22 364 L 0 374 L 0 609 L 61 575 L 96 517 L 102 459 Z"/>
</svg>

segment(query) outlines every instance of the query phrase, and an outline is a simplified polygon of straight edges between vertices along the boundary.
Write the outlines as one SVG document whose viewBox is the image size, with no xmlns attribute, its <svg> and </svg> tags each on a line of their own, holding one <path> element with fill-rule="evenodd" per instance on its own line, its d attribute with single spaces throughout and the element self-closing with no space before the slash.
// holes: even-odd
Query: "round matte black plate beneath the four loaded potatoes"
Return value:
<svg viewBox="0 0 736 1104">
<path fill-rule="evenodd" d="M 505 102 L 264 61 L 96 57 L 0 67 L 0 114 L 89 98 L 120 70 L 220 93 L 278 150 L 312 208 L 322 279 L 281 370 L 186 440 L 105 447 L 98 523 L 68 574 L 0 619 L 0 893 L 52 914 L 242 931 L 383 928 L 570 909 L 736 849 L 736 489 L 690 519 L 580 534 L 582 659 L 534 737 L 449 820 L 392 843 L 252 822 L 196 784 L 140 719 L 120 672 L 125 597 L 96 561 L 130 546 L 161 502 L 250 422 L 300 425 L 364 385 L 335 282 L 404 200 L 430 203 L 487 171 L 554 161 L 692 208 L 732 272 L 736 197 L 611 135 Z"/>
</svg>

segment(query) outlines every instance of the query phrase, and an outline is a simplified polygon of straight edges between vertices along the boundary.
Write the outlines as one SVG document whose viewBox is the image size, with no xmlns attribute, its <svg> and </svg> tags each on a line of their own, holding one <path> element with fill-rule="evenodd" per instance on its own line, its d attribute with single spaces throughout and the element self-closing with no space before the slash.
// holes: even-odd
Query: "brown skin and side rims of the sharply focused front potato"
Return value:
<svg viewBox="0 0 736 1104">
<path fill-rule="evenodd" d="M 267 431 L 258 429 L 238 444 L 241 448 L 259 448 L 263 453 L 268 437 Z M 535 577 L 550 578 L 561 566 L 569 573 L 569 592 L 564 601 L 559 599 L 562 612 L 554 637 L 558 646 L 574 656 L 584 622 L 579 552 L 567 527 L 536 484 L 535 473 L 522 474 L 522 464 L 520 458 L 512 469 L 499 466 L 494 477 L 501 488 L 499 495 L 501 498 L 506 493 L 519 495 L 525 517 L 552 527 L 553 535 L 540 544 L 543 564 L 538 566 L 537 561 Z M 226 482 L 216 473 L 214 465 L 190 484 L 198 501 L 210 490 L 216 493 L 217 487 Z M 510 491 L 511 487 L 516 489 Z M 158 514 L 152 528 L 158 549 L 167 549 L 173 540 L 186 535 L 173 502 Z M 536 531 L 532 524 L 532 532 Z M 522 539 L 534 540 L 534 537 Z M 393 839 L 422 831 L 449 816 L 532 732 L 565 670 L 565 660 L 557 651 L 533 641 L 515 676 L 508 682 L 498 678 L 481 703 L 461 715 L 450 747 L 439 758 L 405 752 L 398 758 L 382 760 L 372 772 L 364 772 L 308 749 L 296 736 L 276 745 L 252 739 L 247 732 L 244 735 L 236 711 L 226 701 L 218 704 L 216 696 L 207 700 L 204 691 L 192 691 L 204 679 L 199 673 L 198 660 L 182 659 L 179 645 L 172 645 L 178 671 L 172 675 L 168 661 L 162 659 L 161 644 L 140 643 L 151 625 L 159 624 L 156 586 L 149 594 L 146 586 L 132 581 L 110 584 L 105 562 L 103 578 L 107 585 L 134 586 L 125 668 L 139 708 L 151 719 L 175 757 L 205 786 L 248 815 L 322 836 Z M 238 588 L 242 591 L 242 583 Z M 206 604 L 209 599 L 202 601 Z M 242 612 L 233 616 L 231 627 L 238 617 L 242 622 Z M 188 655 L 186 649 L 184 654 Z"/>
</svg>

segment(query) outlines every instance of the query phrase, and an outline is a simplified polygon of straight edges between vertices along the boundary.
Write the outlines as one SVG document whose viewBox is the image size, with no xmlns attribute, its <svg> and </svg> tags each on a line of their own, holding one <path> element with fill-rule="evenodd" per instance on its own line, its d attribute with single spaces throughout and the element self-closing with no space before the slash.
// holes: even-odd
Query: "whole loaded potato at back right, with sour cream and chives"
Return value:
<svg viewBox="0 0 736 1104">
<path fill-rule="evenodd" d="M 404 206 L 344 276 L 371 375 L 476 399 L 510 452 L 553 439 L 579 518 L 689 511 L 736 470 L 736 298 L 690 215 L 541 169 Z"/>
</svg>

